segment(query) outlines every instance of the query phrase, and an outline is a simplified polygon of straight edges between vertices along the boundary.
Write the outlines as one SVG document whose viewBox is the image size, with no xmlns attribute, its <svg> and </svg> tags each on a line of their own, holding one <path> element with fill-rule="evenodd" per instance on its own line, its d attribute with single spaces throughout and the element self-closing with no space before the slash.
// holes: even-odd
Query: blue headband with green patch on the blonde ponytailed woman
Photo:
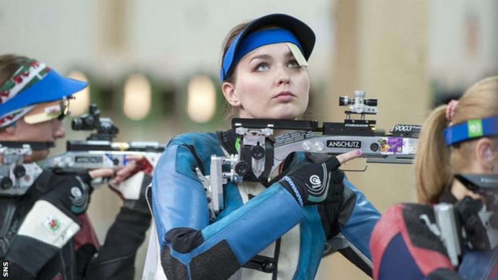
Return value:
<svg viewBox="0 0 498 280">
<path fill-rule="evenodd" d="M 471 119 L 444 130 L 446 146 L 480 137 L 498 136 L 498 116 Z"/>
</svg>

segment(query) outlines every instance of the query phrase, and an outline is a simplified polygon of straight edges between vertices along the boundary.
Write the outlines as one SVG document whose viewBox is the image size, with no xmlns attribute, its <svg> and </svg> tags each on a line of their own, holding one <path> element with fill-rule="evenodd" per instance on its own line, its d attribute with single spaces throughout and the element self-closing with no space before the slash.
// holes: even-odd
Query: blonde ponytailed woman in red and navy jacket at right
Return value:
<svg viewBox="0 0 498 280">
<path fill-rule="evenodd" d="M 498 174 L 498 77 L 436 108 L 424 123 L 415 178 L 418 202 L 426 204 L 396 205 L 382 216 L 370 243 L 375 279 L 498 278 L 498 225 L 482 222 L 482 197 L 457 180 L 463 173 Z M 493 199 L 484 202 L 496 207 L 496 192 Z M 455 205 L 457 214 L 443 219 L 455 217 L 454 238 L 443 234 L 451 223 L 436 222 L 434 209 L 446 206 L 431 204 L 443 202 Z M 497 217 L 498 209 L 487 211 Z M 463 244 L 460 257 L 454 242 Z"/>
</svg>

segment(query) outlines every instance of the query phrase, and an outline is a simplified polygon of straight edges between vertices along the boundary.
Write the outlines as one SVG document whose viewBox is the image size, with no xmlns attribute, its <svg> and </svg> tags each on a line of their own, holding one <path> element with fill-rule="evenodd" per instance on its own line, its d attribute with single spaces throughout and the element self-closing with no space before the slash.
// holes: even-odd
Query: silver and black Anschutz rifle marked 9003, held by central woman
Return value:
<svg viewBox="0 0 498 280">
<path fill-rule="evenodd" d="M 209 176 L 197 171 L 207 190 L 211 218 L 223 205 L 222 185 L 230 182 L 267 182 L 270 174 L 295 151 L 339 155 L 360 149 L 367 163 L 410 164 L 413 162 L 420 125 L 398 124 L 389 135 L 376 134 L 376 121 L 366 115 L 378 113 L 377 99 L 366 99 L 365 91 L 355 91 L 354 98 L 341 96 L 339 106 L 349 106 L 344 122 L 280 119 L 232 119 L 232 128 L 239 137 L 238 154 L 211 157 Z M 352 114 L 360 119 L 352 119 Z M 275 130 L 292 132 L 273 137 Z M 223 172 L 222 165 L 230 171 Z"/>
</svg>

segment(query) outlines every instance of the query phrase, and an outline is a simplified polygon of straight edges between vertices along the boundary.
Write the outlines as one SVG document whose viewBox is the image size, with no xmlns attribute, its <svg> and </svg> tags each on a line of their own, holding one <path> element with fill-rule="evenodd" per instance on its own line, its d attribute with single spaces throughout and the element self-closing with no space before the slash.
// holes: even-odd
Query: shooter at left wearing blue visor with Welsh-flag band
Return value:
<svg viewBox="0 0 498 280">
<path fill-rule="evenodd" d="M 123 206 L 103 245 L 86 215 L 92 180 L 116 170 L 56 173 L 35 163 L 65 136 L 71 95 L 86 86 L 34 59 L 0 56 L 0 259 L 8 262 L 9 278 L 134 276 L 151 219 L 146 207 Z M 117 171 L 116 184 L 130 168 Z"/>
</svg>

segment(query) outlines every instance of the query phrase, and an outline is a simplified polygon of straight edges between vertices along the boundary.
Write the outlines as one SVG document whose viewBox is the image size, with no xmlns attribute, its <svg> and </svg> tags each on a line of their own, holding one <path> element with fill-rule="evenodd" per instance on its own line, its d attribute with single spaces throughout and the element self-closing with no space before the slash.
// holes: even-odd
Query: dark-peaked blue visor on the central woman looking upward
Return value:
<svg viewBox="0 0 498 280">
<path fill-rule="evenodd" d="M 280 32 L 282 29 L 288 32 L 287 35 L 280 33 L 278 37 L 272 38 L 271 36 L 256 36 L 251 38 L 252 33 L 260 33 L 260 31 L 255 32 L 264 27 L 276 27 L 275 29 L 261 30 L 273 32 Z M 280 31 L 278 31 L 280 30 Z M 267 34 L 267 33 L 265 33 Z M 273 34 L 276 35 L 276 34 Z M 289 36 L 291 35 L 291 36 Z M 286 36 L 285 39 L 283 36 Z M 292 37 L 293 39 L 291 39 Z M 245 38 L 250 39 L 245 42 Z M 225 55 L 223 55 L 223 61 L 219 71 L 219 77 L 221 81 L 225 81 L 228 78 L 228 73 L 237 64 L 237 62 L 251 50 L 260 47 L 262 45 L 290 42 L 296 44 L 301 51 L 306 60 L 311 55 L 313 47 L 315 46 L 315 33 L 311 28 L 303 21 L 286 14 L 270 14 L 258 19 L 253 20 L 249 23 L 244 30 L 242 30 L 239 35 L 230 44 Z M 262 44 L 264 42 L 264 44 Z M 259 44 L 259 45 L 258 45 Z M 247 47 L 251 46 L 251 47 Z M 242 50 L 243 48 L 243 50 Z M 248 50 L 247 50 L 248 49 Z M 245 53 L 244 53 L 245 52 Z"/>
</svg>

